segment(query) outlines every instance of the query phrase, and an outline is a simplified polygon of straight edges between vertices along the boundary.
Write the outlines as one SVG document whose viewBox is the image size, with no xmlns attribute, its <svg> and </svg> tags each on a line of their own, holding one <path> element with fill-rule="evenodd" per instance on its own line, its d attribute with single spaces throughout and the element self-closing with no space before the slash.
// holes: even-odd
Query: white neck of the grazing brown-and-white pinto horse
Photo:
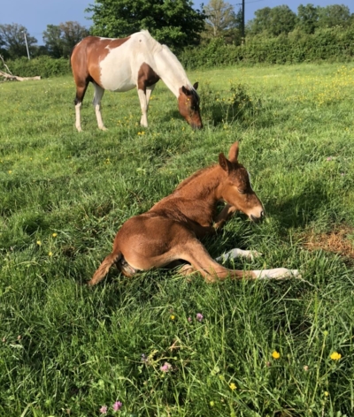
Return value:
<svg viewBox="0 0 354 417">
<path fill-rule="evenodd" d="M 173 95 L 180 95 L 182 86 L 191 87 L 191 83 L 177 57 L 169 49 L 161 49 L 155 58 L 157 64 L 157 73 Z"/>
</svg>

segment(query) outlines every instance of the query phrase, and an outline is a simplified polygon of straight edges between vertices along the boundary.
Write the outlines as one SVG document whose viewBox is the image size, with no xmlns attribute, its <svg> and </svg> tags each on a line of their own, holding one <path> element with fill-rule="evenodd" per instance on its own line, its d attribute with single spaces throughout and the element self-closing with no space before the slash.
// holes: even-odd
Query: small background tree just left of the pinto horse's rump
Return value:
<svg viewBox="0 0 354 417">
<path fill-rule="evenodd" d="M 80 23 L 68 21 L 60 25 L 47 25 L 43 41 L 50 57 L 69 57 L 73 47 L 89 34 Z"/>
</svg>

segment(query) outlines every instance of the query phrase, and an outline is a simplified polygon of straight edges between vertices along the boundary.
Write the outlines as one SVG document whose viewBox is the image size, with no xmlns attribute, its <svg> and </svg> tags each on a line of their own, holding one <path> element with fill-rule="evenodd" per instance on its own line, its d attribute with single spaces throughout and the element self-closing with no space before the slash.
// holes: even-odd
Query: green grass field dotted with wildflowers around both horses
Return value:
<svg viewBox="0 0 354 417">
<path fill-rule="evenodd" d="M 106 93 L 107 132 L 89 87 L 80 134 L 71 77 L 0 84 L 0 415 L 354 415 L 354 63 L 189 79 L 200 132 L 162 83 L 146 129 L 135 91 Z M 127 218 L 235 140 L 267 218 L 236 215 L 204 244 L 263 254 L 231 268 L 301 279 L 112 269 L 83 285 Z"/>
</svg>

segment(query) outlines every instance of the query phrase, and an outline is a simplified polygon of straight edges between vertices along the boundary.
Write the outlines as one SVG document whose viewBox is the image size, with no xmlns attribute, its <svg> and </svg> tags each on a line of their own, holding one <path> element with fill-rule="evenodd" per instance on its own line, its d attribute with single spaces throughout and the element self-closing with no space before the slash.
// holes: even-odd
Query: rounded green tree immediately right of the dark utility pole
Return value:
<svg viewBox="0 0 354 417">
<path fill-rule="evenodd" d="M 249 34 L 267 33 L 273 36 L 289 34 L 296 26 L 296 13 L 286 4 L 255 11 L 255 19 L 248 23 Z"/>
</svg>

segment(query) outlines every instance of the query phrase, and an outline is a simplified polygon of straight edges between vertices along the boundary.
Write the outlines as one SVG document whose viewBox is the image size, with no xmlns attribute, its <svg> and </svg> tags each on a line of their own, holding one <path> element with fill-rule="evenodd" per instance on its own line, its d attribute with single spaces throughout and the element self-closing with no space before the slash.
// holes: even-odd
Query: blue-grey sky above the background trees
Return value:
<svg viewBox="0 0 354 417">
<path fill-rule="evenodd" d="M 238 10 L 239 3 L 242 0 L 229 0 L 229 4 L 235 6 Z M 245 0 L 245 17 L 246 21 L 253 19 L 254 12 L 264 7 L 274 7 L 280 4 L 288 4 L 290 9 L 297 11 L 299 4 L 312 3 L 319 6 L 327 6 L 328 4 L 345 4 L 354 12 L 353 0 Z M 91 21 L 85 19 L 88 13 L 84 10 L 89 4 L 94 3 L 94 0 L 12 0 L 12 2 L 0 2 L 0 24 L 4 23 L 19 23 L 27 27 L 29 34 L 35 36 L 38 43 L 42 43 L 42 32 L 47 25 L 58 25 L 59 23 L 68 20 L 76 20 L 82 26 L 89 27 Z M 207 4 L 204 1 L 204 4 Z M 200 8 L 202 2 L 196 1 L 196 8 Z"/>
</svg>

